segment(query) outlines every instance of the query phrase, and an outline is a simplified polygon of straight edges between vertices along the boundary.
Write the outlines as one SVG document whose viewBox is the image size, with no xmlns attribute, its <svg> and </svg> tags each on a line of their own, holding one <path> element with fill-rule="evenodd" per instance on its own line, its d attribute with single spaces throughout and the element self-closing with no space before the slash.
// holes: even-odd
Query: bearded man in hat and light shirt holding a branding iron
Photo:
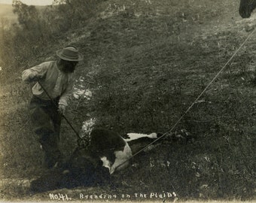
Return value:
<svg viewBox="0 0 256 203">
<path fill-rule="evenodd" d="M 74 46 L 57 50 L 56 61 L 43 62 L 22 73 L 25 83 L 37 82 L 32 87 L 29 106 L 33 131 L 44 150 L 44 166 L 53 168 L 61 159 L 58 148 L 62 114 L 65 114 L 72 95 L 73 72 L 83 59 Z"/>
</svg>

